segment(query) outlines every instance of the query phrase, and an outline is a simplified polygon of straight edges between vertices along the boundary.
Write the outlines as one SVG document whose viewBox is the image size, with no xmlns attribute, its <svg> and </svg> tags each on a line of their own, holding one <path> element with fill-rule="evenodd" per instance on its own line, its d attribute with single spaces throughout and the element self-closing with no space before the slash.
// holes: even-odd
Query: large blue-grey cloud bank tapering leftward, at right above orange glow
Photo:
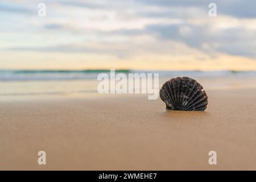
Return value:
<svg viewBox="0 0 256 182">
<path fill-rule="evenodd" d="M 228 28 L 225 30 L 212 31 L 208 26 L 180 25 L 152 25 L 147 26 L 146 31 L 156 34 L 164 40 L 183 42 L 189 47 L 200 49 L 206 53 L 217 52 L 229 55 L 241 55 L 256 58 L 255 30 L 244 28 Z"/>
</svg>

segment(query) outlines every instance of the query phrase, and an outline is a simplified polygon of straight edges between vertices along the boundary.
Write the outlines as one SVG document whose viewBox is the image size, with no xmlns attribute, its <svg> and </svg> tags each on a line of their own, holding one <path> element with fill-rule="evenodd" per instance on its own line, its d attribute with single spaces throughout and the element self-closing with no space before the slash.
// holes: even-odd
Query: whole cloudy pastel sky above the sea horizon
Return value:
<svg viewBox="0 0 256 182">
<path fill-rule="evenodd" d="M 110 68 L 256 71 L 256 1 L 0 1 L 0 69 Z"/>
</svg>

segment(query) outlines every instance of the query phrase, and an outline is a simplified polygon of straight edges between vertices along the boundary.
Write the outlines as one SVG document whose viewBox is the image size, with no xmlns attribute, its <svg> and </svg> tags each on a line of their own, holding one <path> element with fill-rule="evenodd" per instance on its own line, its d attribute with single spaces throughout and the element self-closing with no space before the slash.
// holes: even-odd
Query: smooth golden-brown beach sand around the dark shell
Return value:
<svg viewBox="0 0 256 182">
<path fill-rule="evenodd" d="M 190 112 L 134 94 L 1 102 L 0 169 L 255 170 L 256 89 L 207 94 Z"/>
</svg>

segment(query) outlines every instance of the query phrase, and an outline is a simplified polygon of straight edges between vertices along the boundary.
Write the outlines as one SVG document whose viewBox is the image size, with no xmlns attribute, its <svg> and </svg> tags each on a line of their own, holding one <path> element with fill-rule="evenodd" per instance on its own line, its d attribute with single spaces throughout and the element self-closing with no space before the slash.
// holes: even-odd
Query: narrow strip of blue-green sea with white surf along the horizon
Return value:
<svg viewBox="0 0 256 182">
<path fill-rule="evenodd" d="M 0 70 L 0 81 L 52 81 L 52 80 L 96 80 L 98 74 L 110 70 L 94 69 L 82 71 L 68 70 Z M 188 77 L 256 77 L 256 71 L 134 71 L 115 70 L 116 73 L 159 73 L 160 78 Z"/>
</svg>

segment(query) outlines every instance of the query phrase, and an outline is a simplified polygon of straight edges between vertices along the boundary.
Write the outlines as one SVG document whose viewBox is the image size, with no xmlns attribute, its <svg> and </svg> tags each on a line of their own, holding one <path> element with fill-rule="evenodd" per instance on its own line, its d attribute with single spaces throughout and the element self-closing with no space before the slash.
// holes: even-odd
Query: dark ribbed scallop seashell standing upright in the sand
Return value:
<svg viewBox="0 0 256 182">
<path fill-rule="evenodd" d="M 176 77 L 165 82 L 160 98 L 171 110 L 205 110 L 208 97 L 203 86 L 189 77 Z"/>
</svg>

